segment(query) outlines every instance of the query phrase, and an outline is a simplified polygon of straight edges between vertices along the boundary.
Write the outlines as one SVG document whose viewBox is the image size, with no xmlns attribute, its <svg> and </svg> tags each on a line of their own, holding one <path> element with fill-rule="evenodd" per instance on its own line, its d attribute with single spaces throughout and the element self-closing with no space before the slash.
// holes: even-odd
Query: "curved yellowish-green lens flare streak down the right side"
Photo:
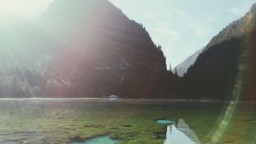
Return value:
<svg viewBox="0 0 256 144">
<path fill-rule="evenodd" d="M 218 143 L 220 142 L 222 136 L 225 134 L 226 130 L 229 128 L 233 114 L 238 110 L 238 103 L 240 100 L 247 100 L 247 96 L 244 94 L 246 87 L 246 80 L 248 79 L 248 69 L 251 69 L 250 62 L 250 53 L 254 49 L 254 40 L 250 39 L 252 35 L 247 35 L 246 40 L 244 41 L 245 49 L 242 49 L 242 54 L 238 63 L 238 73 L 237 78 L 234 83 L 234 88 L 232 91 L 231 98 L 225 107 L 225 110 L 222 114 L 220 124 L 217 126 L 214 134 L 211 137 L 209 143 Z M 243 93 L 243 94 L 242 94 Z M 241 98 L 243 95 L 243 98 Z M 255 137 L 256 138 L 256 137 Z"/>
</svg>

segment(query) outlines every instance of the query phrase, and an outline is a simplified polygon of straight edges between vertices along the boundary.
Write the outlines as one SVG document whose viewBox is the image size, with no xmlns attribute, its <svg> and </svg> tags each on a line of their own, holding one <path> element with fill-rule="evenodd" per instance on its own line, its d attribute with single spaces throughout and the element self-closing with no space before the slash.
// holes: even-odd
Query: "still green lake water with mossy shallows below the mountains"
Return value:
<svg viewBox="0 0 256 144">
<path fill-rule="evenodd" d="M 0 99 L 0 143 L 98 140 L 207 143 L 216 139 L 219 143 L 255 143 L 255 103 L 238 103 L 232 116 L 224 121 L 228 104 L 182 100 Z M 157 121 L 164 121 L 164 125 Z M 223 123 L 225 128 L 221 129 Z M 219 129 L 223 130 L 221 137 L 216 137 Z"/>
</svg>

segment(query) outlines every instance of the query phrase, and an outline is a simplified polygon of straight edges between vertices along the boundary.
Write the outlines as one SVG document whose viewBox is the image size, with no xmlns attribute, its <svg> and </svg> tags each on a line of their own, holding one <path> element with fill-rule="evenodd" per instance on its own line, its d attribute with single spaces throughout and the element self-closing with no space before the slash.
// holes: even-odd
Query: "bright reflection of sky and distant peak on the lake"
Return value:
<svg viewBox="0 0 256 144">
<path fill-rule="evenodd" d="M 188 127 L 184 119 L 180 118 L 179 122 L 169 125 L 166 131 L 166 139 L 164 144 L 174 143 L 201 143 L 196 132 Z"/>
</svg>

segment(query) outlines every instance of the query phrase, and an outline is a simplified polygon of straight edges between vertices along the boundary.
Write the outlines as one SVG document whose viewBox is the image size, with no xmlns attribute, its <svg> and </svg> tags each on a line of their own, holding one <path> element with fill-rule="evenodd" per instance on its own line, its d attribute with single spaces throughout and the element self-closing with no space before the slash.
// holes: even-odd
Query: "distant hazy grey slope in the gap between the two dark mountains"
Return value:
<svg viewBox="0 0 256 144">
<path fill-rule="evenodd" d="M 183 75 L 185 73 L 187 73 L 187 69 L 196 62 L 199 54 L 201 54 L 204 49 L 205 49 L 205 47 L 203 47 L 202 49 L 198 50 L 196 53 L 194 53 L 193 55 L 189 56 L 186 60 L 184 60 L 183 62 L 178 64 L 176 67 L 174 67 L 173 68 L 173 73 L 175 73 L 175 69 L 176 69 L 177 73 L 178 73 L 178 76 L 183 77 Z"/>
</svg>

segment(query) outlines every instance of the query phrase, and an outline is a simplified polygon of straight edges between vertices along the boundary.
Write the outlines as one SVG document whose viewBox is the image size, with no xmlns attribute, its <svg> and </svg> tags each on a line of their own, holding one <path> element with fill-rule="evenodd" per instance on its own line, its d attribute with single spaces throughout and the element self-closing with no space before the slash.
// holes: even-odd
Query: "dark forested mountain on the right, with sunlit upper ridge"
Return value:
<svg viewBox="0 0 256 144">
<path fill-rule="evenodd" d="M 212 38 L 183 79 L 187 89 L 184 95 L 225 100 L 242 87 L 237 95 L 244 100 L 255 100 L 255 16 L 256 4 Z"/>
</svg>

